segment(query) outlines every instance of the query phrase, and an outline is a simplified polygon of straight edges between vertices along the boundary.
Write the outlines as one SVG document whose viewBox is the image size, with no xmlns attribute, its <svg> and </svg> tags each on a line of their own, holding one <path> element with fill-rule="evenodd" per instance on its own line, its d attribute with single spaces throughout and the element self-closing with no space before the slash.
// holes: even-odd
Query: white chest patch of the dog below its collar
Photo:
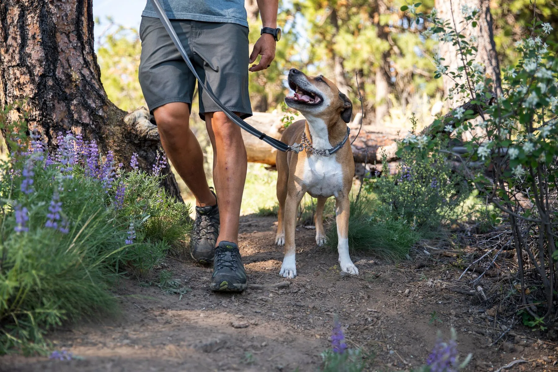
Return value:
<svg viewBox="0 0 558 372">
<path fill-rule="evenodd" d="M 304 163 L 303 182 L 312 197 L 337 196 L 343 189 L 343 170 L 335 155 L 310 154 Z"/>
</svg>

